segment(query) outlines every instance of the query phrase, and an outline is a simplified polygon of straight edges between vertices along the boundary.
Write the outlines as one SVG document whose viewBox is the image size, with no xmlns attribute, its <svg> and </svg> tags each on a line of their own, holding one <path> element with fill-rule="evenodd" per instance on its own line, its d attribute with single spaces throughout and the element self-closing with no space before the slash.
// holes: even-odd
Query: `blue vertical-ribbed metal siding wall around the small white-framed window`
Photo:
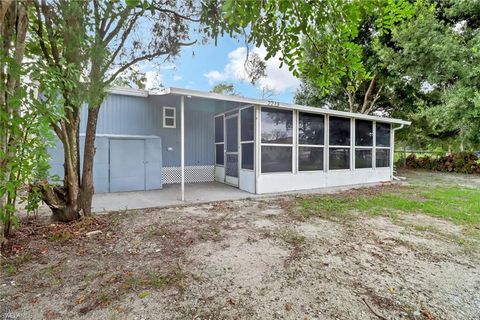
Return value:
<svg viewBox="0 0 480 320">
<path fill-rule="evenodd" d="M 185 165 L 214 164 L 214 115 L 226 105 L 224 101 L 185 98 Z M 176 108 L 176 128 L 163 128 L 164 106 Z M 85 132 L 86 119 L 85 107 L 81 113 L 81 133 Z M 159 136 L 163 166 L 180 166 L 180 97 L 109 95 L 100 109 L 97 134 Z"/>
</svg>

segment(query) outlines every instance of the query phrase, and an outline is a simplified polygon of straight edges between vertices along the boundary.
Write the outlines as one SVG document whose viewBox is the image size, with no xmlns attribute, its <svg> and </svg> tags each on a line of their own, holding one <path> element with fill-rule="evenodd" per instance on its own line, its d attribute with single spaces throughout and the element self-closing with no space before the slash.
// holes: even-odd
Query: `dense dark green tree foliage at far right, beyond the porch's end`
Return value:
<svg viewBox="0 0 480 320">
<path fill-rule="evenodd" d="M 389 70 L 415 88 L 406 143 L 480 147 L 480 2 L 418 1 L 384 48 Z"/>
</svg>

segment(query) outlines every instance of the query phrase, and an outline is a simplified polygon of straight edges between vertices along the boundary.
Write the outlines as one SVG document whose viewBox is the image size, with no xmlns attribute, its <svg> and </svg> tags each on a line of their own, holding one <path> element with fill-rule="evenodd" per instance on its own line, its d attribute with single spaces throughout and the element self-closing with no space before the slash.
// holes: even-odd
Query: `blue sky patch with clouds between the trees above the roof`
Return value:
<svg viewBox="0 0 480 320">
<path fill-rule="evenodd" d="M 265 57 L 265 48 L 250 50 Z M 300 81 L 286 66 L 279 68 L 278 56 L 266 61 L 266 77 L 252 85 L 246 80 L 244 71 L 246 53 L 244 43 L 223 37 L 218 40 L 217 46 L 211 42 L 183 47 L 175 61 L 144 65 L 142 72 L 146 73 L 147 89 L 161 84 L 164 87 L 210 91 L 215 84 L 227 82 L 232 83 L 241 96 L 262 98 L 262 89 L 266 88 L 273 92 L 268 100 L 293 102 Z"/>
</svg>

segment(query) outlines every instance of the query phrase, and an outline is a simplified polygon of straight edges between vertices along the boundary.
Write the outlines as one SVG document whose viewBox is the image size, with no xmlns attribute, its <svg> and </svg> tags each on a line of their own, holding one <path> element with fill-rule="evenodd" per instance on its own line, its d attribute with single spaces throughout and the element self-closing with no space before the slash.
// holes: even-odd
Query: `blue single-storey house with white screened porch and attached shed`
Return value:
<svg viewBox="0 0 480 320">
<path fill-rule="evenodd" d="M 113 88 L 98 119 L 95 192 L 181 183 L 183 199 L 194 182 L 263 194 L 390 181 L 394 133 L 409 124 L 189 89 Z M 50 153 L 52 173 L 63 176 L 61 144 Z"/>
</svg>

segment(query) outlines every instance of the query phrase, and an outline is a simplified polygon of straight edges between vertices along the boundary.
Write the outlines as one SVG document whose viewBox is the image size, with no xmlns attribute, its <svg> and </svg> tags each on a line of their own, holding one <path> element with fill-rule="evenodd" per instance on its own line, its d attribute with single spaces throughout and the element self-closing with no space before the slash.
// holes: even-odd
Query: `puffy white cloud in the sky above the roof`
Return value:
<svg viewBox="0 0 480 320">
<path fill-rule="evenodd" d="M 254 48 L 253 53 L 258 54 L 262 59 L 265 58 L 267 51 L 264 47 Z M 247 48 L 239 47 L 228 54 L 229 62 L 225 65 L 223 71 L 212 70 L 204 74 L 211 85 L 222 81 L 241 81 L 249 82 L 245 71 L 245 59 Z M 275 94 L 294 90 L 300 85 L 300 80 L 295 78 L 287 68 L 280 68 L 280 55 L 270 58 L 266 61 L 265 77 L 260 78 L 255 86 L 260 90 L 269 90 Z"/>
</svg>

